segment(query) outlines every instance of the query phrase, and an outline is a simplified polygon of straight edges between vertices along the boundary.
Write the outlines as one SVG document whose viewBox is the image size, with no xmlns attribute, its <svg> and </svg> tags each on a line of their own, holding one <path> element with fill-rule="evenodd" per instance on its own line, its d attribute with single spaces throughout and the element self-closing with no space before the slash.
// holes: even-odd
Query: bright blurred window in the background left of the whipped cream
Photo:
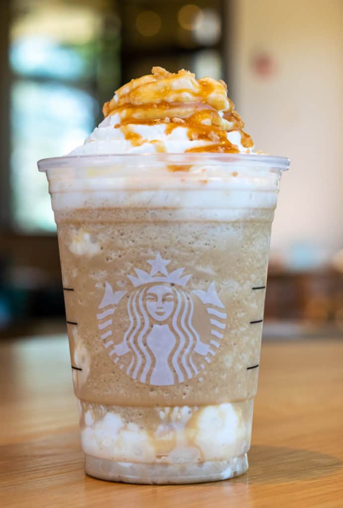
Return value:
<svg viewBox="0 0 343 508">
<path fill-rule="evenodd" d="M 119 21 L 113 3 L 103 0 L 89 5 L 16 0 L 11 9 L 13 226 L 54 231 L 47 181 L 37 161 L 67 154 L 98 123 L 100 104 L 119 85 Z"/>
</svg>

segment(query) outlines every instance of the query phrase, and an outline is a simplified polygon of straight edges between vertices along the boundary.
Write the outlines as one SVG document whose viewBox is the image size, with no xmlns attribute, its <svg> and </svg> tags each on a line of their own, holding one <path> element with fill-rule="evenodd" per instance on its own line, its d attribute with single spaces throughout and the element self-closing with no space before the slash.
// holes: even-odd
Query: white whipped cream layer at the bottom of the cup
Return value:
<svg viewBox="0 0 343 508">
<path fill-rule="evenodd" d="M 118 462 L 227 460 L 250 448 L 253 404 L 250 399 L 201 407 L 159 407 L 159 421 L 151 420 L 145 427 L 135 422 L 136 408 L 124 409 L 125 418 L 118 407 L 79 401 L 82 449 L 86 455 Z M 97 412 L 104 414 L 95 418 Z M 140 412 L 148 422 L 151 409 L 140 408 Z"/>
</svg>

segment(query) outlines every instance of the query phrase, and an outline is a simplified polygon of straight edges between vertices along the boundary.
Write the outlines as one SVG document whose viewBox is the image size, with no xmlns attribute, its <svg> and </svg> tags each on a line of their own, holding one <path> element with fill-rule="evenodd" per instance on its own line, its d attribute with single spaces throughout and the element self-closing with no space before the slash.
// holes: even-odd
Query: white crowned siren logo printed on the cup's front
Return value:
<svg viewBox="0 0 343 508">
<path fill-rule="evenodd" d="M 113 291 L 106 282 L 98 328 L 109 356 L 133 379 L 155 386 L 183 383 L 220 348 L 225 307 L 214 281 L 207 291 L 188 290 L 192 275 L 184 275 L 184 268 L 168 271 L 171 260 L 160 253 L 147 263 L 150 271 L 135 268 L 136 275 L 127 276 L 128 290 Z"/>
</svg>

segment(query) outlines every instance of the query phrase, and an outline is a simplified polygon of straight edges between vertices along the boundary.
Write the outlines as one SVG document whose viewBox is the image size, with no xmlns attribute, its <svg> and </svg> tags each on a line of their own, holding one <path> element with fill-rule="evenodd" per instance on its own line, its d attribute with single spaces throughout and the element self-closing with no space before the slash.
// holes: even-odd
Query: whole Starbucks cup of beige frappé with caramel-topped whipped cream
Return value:
<svg viewBox="0 0 343 508">
<path fill-rule="evenodd" d="M 234 477 L 247 469 L 270 229 L 289 161 L 248 153 L 224 84 L 186 71 L 153 70 L 104 112 L 93 143 L 39 163 L 86 472 Z"/>
</svg>

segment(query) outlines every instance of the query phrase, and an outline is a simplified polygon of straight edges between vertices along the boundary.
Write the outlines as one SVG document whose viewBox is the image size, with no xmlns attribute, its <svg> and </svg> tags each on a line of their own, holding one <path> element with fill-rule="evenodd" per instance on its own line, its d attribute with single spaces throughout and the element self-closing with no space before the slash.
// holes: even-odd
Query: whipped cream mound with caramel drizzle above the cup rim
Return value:
<svg viewBox="0 0 343 508">
<path fill-rule="evenodd" d="M 159 67 L 133 79 L 105 103 L 104 120 L 70 155 L 250 153 L 253 141 L 224 81 Z"/>
</svg>

